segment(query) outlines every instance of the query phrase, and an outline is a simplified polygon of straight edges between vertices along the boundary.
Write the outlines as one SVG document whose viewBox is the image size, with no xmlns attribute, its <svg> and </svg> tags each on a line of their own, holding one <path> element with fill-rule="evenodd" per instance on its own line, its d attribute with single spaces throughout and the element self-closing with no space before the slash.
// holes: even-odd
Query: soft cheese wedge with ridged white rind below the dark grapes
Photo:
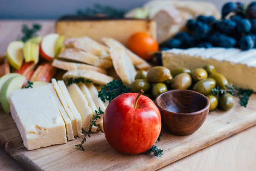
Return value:
<svg viewBox="0 0 256 171">
<path fill-rule="evenodd" d="M 256 92 L 256 49 L 241 51 L 237 48 L 189 48 L 163 51 L 163 66 L 175 68 L 203 68 L 213 65 L 229 84 L 250 88 Z"/>
</svg>

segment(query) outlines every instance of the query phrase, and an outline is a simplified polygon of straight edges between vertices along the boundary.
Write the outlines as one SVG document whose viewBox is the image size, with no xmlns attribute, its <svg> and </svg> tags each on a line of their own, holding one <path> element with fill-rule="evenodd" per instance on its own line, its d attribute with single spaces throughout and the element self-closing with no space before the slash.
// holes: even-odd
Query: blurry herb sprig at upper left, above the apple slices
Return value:
<svg viewBox="0 0 256 171">
<path fill-rule="evenodd" d="M 29 28 L 26 24 L 23 24 L 21 32 L 23 33 L 23 37 L 21 37 L 21 41 L 26 42 L 32 37 L 37 36 L 37 31 L 41 29 L 41 25 L 33 24 L 32 28 Z"/>
</svg>

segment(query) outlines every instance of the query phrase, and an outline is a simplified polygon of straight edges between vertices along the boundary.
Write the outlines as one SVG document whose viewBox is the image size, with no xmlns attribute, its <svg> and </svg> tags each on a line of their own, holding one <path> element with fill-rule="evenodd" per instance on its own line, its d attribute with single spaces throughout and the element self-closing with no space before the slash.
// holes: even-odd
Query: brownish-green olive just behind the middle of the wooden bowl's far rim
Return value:
<svg viewBox="0 0 256 171">
<path fill-rule="evenodd" d="M 172 88 L 173 89 L 187 89 L 191 85 L 192 80 L 191 76 L 187 73 L 178 74 L 172 80 Z"/>
</svg>

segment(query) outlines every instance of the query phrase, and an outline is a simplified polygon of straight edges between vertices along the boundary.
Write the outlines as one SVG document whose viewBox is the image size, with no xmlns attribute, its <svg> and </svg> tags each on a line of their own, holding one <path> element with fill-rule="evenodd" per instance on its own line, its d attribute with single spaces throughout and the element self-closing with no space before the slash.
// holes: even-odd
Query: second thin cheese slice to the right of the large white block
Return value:
<svg viewBox="0 0 256 171">
<path fill-rule="evenodd" d="M 76 137 L 76 136 L 78 136 L 78 131 L 77 131 L 77 127 L 76 127 L 76 119 L 75 119 L 73 113 L 70 111 L 70 108 L 68 108 L 67 102 L 66 102 L 66 100 L 65 100 L 65 98 L 64 98 L 64 96 L 61 92 L 61 89 L 58 86 L 58 83 L 54 78 L 52 79 L 52 84 L 53 84 L 53 87 L 55 88 L 55 91 L 58 95 L 59 100 L 61 101 L 61 104 L 62 104 L 63 108 L 65 109 L 65 111 L 67 112 L 68 117 L 71 120 L 73 135 L 74 135 L 74 137 Z"/>
</svg>

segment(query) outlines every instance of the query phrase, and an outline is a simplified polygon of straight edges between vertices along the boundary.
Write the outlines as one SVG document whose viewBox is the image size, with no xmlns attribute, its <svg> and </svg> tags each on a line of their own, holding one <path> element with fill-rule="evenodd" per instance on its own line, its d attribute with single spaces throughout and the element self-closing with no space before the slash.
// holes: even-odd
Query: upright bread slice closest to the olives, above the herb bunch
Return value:
<svg viewBox="0 0 256 171">
<path fill-rule="evenodd" d="M 137 72 L 126 51 L 123 48 L 110 48 L 110 56 L 116 74 L 126 86 L 130 85 Z"/>
</svg>

